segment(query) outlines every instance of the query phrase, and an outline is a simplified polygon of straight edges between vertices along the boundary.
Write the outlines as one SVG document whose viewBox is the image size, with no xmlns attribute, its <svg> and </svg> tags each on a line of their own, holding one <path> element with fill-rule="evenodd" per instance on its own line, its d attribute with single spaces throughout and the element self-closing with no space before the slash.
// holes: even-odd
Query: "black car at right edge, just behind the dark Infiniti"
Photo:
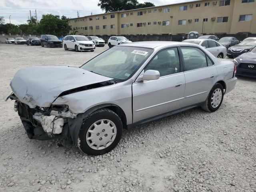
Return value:
<svg viewBox="0 0 256 192">
<path fill-rule="evenodd" d="M 236 58 L 243 53 L 249 52 L 254 46 L 256 46 L 256 40 L 243 40 L 238 45 L 228 48 L 228 57 Z"/>
</svg>

